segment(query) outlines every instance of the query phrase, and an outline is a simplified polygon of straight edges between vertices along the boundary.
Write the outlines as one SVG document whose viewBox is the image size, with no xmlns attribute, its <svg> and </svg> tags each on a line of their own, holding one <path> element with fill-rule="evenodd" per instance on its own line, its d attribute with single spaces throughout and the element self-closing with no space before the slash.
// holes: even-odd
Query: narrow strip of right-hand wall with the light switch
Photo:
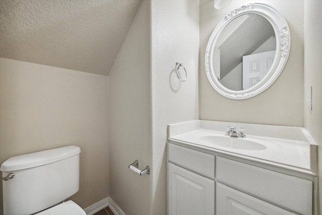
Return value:
<svg viewBox="0 0 322 215">
<path fill-rule="evenodd" d="M 322 1 L 305 1 L 304 11 L 304 127 L 318 144 L 319 204 L 322 208 Z M 312 111 L 307 109 L 306 102 L 309 86 L 312 86 Z"/>
</svg>

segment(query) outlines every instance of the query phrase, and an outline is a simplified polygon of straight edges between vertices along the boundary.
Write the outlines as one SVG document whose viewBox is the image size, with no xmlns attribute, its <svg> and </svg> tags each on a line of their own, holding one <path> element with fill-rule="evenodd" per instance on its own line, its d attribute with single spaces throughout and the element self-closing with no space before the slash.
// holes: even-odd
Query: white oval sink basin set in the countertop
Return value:
<svg viewBox="0 0 322 215">
<path fill-rule="evenodd" d="M 257 141 L 248 138 L 217 136 L 217 135 L 202 135 L 199 137 L 201 141 L 207 142 L 218 147 L 225 147 L 238 150 L 265 150 L 266 146 Z"/>
</svg>

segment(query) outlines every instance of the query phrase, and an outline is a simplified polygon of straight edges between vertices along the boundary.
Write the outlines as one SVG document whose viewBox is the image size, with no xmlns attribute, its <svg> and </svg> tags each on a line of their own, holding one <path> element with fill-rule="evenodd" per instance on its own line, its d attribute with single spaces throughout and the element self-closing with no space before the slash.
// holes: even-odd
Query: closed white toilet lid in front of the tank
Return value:
<svg viewBox="0 0 322 215">
<path fill-rule="evenodd" d="M 72 200 L 65 201 L 47 210 L 37 213 L 37 215 L 86 215 L 86 212 Z"/>
</svg>

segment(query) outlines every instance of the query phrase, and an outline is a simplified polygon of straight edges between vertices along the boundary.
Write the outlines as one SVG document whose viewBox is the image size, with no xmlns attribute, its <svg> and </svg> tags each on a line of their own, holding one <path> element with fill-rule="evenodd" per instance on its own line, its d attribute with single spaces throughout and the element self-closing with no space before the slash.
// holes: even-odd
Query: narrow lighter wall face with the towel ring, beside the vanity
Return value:
<svg viewBox="0 0 322 215">
<path fill-rule="evenodd" d="M 150 214 L 163 215 L 167 214 L 167 125 L 199 118 L 199 2 L 151 1 L 151 21 L 153 169 Z M 186 68 L 186 82 L 180 83 L 177 78 L 176 62 Z"/>
</svg>

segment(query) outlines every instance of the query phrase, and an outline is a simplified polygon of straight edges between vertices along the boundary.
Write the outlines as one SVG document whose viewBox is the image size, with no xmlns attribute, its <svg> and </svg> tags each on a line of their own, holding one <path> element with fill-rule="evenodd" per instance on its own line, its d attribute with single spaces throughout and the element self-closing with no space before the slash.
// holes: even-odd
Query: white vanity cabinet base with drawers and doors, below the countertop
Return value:
<svg viewBox="0 0 322 215">
<path fill-rule="evenodd" d="M 168 144 L 169 214 L 312 214 L 312 180 L 179 145 Z"/>
</svg>

